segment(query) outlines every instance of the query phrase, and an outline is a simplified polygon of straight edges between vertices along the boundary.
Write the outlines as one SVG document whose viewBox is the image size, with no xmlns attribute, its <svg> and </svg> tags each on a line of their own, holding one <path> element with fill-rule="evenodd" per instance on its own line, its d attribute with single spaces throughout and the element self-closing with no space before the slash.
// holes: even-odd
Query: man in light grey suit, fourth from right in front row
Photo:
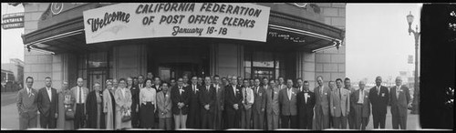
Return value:
<svg viewBox="0 0 456 133">
<path fill-rule="evenodd" d="M 334 128 L 347 128 L 347 116 L 350 112 L 350 92 L 342 88 L 342 79 L 336 79 L 337 88 L 331 92 L 329 107 Z"/>
</svg>

